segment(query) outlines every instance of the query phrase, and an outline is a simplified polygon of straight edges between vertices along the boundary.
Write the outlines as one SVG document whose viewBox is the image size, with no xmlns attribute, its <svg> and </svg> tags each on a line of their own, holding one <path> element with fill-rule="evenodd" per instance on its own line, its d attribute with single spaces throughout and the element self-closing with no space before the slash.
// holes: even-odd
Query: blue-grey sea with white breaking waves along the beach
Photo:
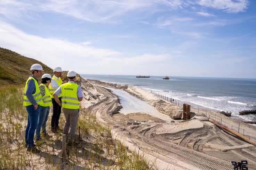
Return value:
<svg viewBox="0 0 256 170">
<path fill-rule="evenodd" d="M 255 114 L 239 115 L 241 110 L 256 109 L 256 79 L 206 78 L 121 75 L 81 75 L 110 83 L 137 86 L 147 91 L 164 95 L 199 109 L 232 112 L 232 118 L 242 121 L 256 121 Z"/>
</svg>

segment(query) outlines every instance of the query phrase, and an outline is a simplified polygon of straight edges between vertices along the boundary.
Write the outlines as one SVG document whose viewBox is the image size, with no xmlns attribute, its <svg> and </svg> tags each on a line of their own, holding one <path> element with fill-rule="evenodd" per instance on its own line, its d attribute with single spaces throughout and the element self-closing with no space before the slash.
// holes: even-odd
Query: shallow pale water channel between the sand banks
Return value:
<svg viewBox="0 0 256 170">
<path fill-rule="evenodd" d="M 139 100 L 136 97 L 131 96 L 129 93 L 123 90 L 114 89 L 114 88 L 108 88 L 108 89 L 112 90 L 114 94 L 119 96 L 120 103 L 123 107 L 119 111 L 120 113 L 129 114 L 129 113 L 143 112 L 165 121 L 172 120 L 169 116 L 158 112 L 154 107 L 149 105 L 147 102 Z"/>
</svg>

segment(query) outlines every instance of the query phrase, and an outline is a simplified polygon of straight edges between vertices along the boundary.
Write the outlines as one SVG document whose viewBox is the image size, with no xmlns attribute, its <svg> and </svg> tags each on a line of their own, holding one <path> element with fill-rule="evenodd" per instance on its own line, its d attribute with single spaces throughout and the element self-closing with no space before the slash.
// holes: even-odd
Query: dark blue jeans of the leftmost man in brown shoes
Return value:
<svg viewBox="0 0 256 170">
<path fill-rule="evenodd" d="M 33 147 L 34 145 L 34 134 L 37 128 L 39 109 L 34 109 L 33 105 L 26 106 L 27 110 L 27 127 L 25 130 L 25 143 L 27 147 Z"/>
</svg>

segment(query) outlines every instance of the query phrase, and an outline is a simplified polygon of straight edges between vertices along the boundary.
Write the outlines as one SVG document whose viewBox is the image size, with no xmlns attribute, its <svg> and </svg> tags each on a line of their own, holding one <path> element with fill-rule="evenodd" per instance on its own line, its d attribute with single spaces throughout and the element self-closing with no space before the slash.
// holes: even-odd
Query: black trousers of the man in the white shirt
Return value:
<svg viewBox="0 0 256 170">
<path fill-rule="evenodd" d="M 52 98 L 53 101 L 53 116 L 51 116 L 51 129 L 59 127 L 59 116 L 61 116 L 61 106 Z M 59 97 L 61 101 L 61 97 Z"/>
</svg>

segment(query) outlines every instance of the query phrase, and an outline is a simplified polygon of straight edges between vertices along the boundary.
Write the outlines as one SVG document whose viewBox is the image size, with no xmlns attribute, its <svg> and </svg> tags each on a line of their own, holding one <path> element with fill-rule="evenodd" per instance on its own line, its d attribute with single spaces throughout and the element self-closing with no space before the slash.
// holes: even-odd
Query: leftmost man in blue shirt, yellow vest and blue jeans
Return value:
<svg viewBox="0 0 256 170">
<path fill-rule="evenodd" d="M 43 103 L 38 86 L 38 78 L 41 77 L 43 68 L 40 64 L 33 64 L 30 70 L 32 71 L 32 76 L 26 81 L 23 95 L 23 105 L 26 107 L 28 113 L 25 130 L 25 146 L 27 147 L 27 151 L 39 153 L 40 150 L 34 144 L 34 134 L 38 124 L 38 106 Z"/>
</svg>

